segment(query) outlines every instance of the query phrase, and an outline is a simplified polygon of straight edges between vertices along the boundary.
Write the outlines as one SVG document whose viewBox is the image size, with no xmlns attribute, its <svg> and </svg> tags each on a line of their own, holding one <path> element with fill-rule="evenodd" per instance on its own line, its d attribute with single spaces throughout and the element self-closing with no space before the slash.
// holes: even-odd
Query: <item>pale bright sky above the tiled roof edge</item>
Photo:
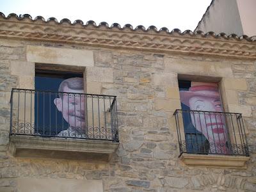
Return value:
<svg viewBox="0 0 256 192">
<path fill-rule="evenodd" d="M 210 4 L 211 0 L 0 0 L 0 12 L 193 31 Z"/>
</svg>

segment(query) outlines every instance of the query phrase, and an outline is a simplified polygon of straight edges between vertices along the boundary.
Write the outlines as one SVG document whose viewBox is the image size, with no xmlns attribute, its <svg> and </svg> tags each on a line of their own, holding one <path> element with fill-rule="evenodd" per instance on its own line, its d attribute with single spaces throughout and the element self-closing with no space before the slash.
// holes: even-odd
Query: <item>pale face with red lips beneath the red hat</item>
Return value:
<svg viewBox="0 0 256 192">
<path fill-rule="evenodd" d="M 191 97 L 189 107 L 195 111 L 222 111 L 220 99 L 204 96 Z M 214 143 L 227 141 L 227 129 L 222 113 L 191 113 L 191 121 L 196 130 L 202 132 L 207 140 Z"/>
</svg>

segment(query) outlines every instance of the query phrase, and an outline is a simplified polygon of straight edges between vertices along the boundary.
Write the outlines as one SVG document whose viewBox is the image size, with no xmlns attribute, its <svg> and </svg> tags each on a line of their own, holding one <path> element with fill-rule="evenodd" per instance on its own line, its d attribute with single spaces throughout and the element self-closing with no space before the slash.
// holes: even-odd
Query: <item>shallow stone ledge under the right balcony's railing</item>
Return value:
<svg viewBox="0 0 256 192">
<path fill-rule="evenodd" d="M 204 166 L 214 168 L 246 168 L 246 156 L 224 156 L 224 155 L 202 155 L 202 154 L 181 154 L 180 161 L 189 166 Z"/>
</svg>

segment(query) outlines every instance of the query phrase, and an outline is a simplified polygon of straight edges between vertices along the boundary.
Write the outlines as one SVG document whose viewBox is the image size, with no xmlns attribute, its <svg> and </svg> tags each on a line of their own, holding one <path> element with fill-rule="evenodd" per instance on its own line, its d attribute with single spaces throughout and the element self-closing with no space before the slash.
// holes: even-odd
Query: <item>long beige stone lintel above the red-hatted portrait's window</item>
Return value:
<svg viewBox="0 0 256 192">
<path fill-rule="evenodd" d="M 166 71 L 176 72 L 178 74 L 211 77 L 233 77 L 230 64 L 223 62 L 165 58 L 164 66 Z"/>
</svg>

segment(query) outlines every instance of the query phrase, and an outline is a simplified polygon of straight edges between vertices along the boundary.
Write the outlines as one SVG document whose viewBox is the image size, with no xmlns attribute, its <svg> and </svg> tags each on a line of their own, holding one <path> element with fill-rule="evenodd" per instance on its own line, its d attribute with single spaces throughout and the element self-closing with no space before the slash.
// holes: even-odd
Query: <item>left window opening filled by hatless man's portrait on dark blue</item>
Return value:
<svg viewBox="0 0 256 192">
<path fill-rule="evenodd" d="M 83 135 L 82 73 L 36 71 L 35 89 L 35 133 L 44 136 Z"/>
</svg>

